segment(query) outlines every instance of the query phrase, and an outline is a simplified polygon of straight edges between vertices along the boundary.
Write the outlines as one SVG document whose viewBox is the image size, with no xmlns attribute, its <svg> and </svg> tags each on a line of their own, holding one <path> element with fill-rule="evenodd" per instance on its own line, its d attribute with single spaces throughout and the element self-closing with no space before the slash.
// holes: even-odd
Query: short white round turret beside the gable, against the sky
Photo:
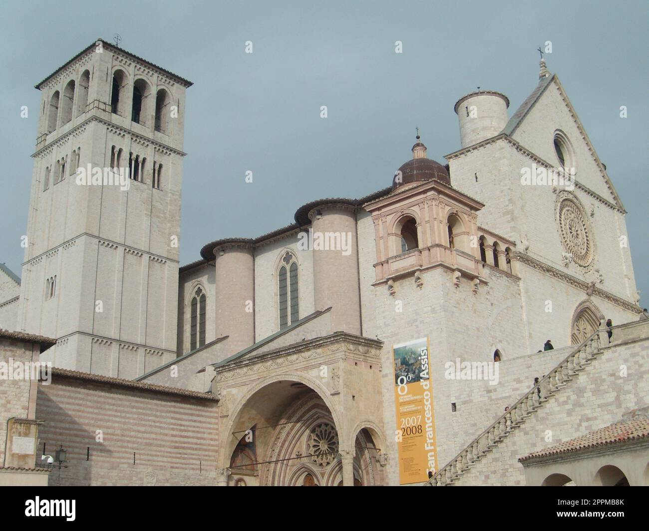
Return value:
<svg viewBox="0 0 649 531">
<path fill-rule="evenodd" d="M 509 99 L 500 92 L 482 90 L 461 97 L 455 104 L 462 147 L 499 134 L 507 125 Z"/>
</svg>

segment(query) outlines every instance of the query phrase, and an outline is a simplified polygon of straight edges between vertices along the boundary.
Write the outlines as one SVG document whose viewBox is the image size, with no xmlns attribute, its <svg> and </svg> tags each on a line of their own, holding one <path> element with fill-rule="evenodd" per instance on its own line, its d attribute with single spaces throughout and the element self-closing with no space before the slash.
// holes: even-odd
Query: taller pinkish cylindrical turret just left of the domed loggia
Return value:
<svg viewBox="0 0 649 531">
<path fill-rule="evenodd" d="M 358 244 L 353 204 L 325 204 L 309 212 L 313 228 L 315 309 L 332 307 L 332 331 L 360 335 Z"/>
</svg>

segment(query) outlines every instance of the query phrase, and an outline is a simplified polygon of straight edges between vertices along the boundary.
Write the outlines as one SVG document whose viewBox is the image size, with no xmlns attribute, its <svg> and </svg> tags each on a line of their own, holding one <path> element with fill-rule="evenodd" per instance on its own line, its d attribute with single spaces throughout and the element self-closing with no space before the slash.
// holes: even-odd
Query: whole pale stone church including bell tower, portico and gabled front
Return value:
<svg viewBox="0 0 649 531">
<path fill-rule="evenodd" d="M 641 314 L 626 211 L 545 61 L 511 114 L 496 91 L 456 102 L 447 163 L 417 135 L 369 195 L 179 267 L 190 86 L 101 40 L 36 86 L 28 244 L 2 315 L 55 339 L 40 358 L 61 370 L 214 395 L 217 484 L 446 484 L 505 407 L 495 440 L 522 421 L 507 412 L 537 381 L 548 399 L 567 359 L 624 352 L 602 330 Z M 617 410 L 561 437 L 648 405 L 642 367 Z"/>
</svg>

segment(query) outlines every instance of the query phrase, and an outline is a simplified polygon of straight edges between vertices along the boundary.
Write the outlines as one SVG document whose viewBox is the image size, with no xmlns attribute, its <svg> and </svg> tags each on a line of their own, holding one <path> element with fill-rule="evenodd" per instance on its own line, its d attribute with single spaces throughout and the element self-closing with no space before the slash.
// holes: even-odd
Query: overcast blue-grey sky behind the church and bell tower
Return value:
<svg viewBox="0 0 649 531">
<path fill-rule="evenodd" d="M 386 187 L 411 158 L 415 125 L 428 156 L 443 162 L 459 148 L 456 100 L 476 86 L 493 89 L 508 95 L 511 115 L 537 83 L 537 47 L 552 41 L 548 69 L 628 211 L 635 277 L 649 305 L 646 1 L 2 5 L 0 262 L 18 275 L 38 120 L 38 112 L 21 119 L 20 108 L 38 109 L 34 84 L 97 37 L 119 33 L 121 47 L 195 83 L 181 265 L 214 239 L 287 225 L 311 200 Z M 254 53 L 244 53 L 245 41 Z"/>
</svg>

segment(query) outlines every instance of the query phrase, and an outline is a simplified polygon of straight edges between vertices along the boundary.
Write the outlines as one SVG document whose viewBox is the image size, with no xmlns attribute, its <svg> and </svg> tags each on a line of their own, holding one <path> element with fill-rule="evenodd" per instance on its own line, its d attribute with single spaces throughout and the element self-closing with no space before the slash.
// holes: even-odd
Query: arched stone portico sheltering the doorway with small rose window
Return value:
<svg viewBox="0 0 649 531">
<path fill-rule="evenodd" d="M 304 342 L 301 352 L 293 347 L 286 357 L 275 357 L 278 349 L 215 368 L 219 484 L 241 478 L 247 485 L 383 482 L 380 404 L 356 386 L 360 370 L 380 380 L 378 345 L 357 346 L 349 338 L 343 342 L 345 336 Z M 328 348 L 314 348 L 323 342 Z M 343 379 L 349 388 L 342 388 Z M 345 410 L 347 394 L 354 407 Z"/>
</svg>

